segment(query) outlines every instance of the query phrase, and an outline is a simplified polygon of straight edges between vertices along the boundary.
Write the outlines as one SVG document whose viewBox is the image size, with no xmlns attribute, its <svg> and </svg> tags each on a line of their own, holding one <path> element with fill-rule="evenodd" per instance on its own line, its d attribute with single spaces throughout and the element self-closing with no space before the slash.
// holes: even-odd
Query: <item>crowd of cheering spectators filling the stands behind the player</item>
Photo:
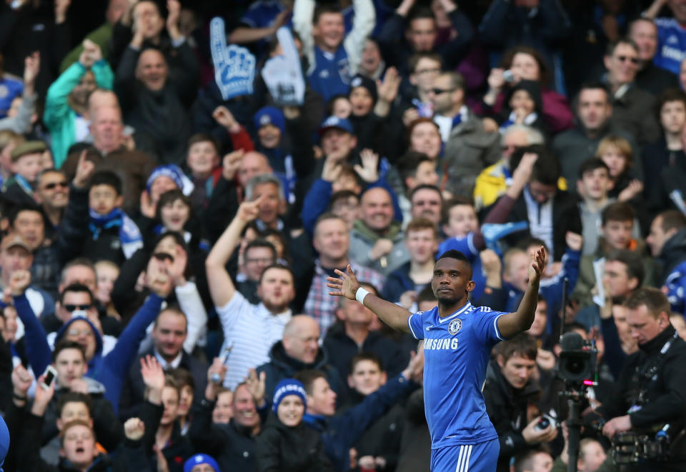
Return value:
<svg viewBox="0 0 686 472">
<path fill-rule="evenodd" d="M 686 339 L 684 0 L 6 0 L 0 54 L 6 471 L 428 471 L 423 347 L 329 296 L 348 265 L 426 311 L 457 249 L 516 311 L 545 246 L 498 472 L 566 470 L 562 331 L 592 408 L 637 289 Z"/>
</svg>

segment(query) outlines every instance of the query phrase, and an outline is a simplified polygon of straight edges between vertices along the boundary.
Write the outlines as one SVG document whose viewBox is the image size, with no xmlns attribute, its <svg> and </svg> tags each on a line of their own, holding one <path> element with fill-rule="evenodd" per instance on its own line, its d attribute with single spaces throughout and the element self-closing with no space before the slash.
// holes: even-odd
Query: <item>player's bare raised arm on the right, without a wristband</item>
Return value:
<svg viewBox="0 0 686 472">
<path fill-rule="evenodd" d="M 515 334 L 531 328 L 538 303 L 538 286 L 541 281 L 541 274 L 545 270 L 545 256 L 543 246 L 535 253 L 531 253 L 529 285 L 524 292 L 522 301 L 520 301 L 519 308 L 515 313 L 507 313 L 507 315 L 498 318 L 498 331 L 500 331 L 502 338 L 512 338 Z"/>
</svg>

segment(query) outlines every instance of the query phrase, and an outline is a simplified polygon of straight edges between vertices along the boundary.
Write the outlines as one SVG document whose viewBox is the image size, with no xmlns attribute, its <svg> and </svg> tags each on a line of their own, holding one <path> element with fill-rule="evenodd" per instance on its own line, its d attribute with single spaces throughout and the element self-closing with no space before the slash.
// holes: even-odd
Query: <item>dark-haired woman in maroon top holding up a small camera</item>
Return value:
<svg viewBox="0 0 686 472">
<path fill-rule="evenodd" d="M 497 116 L 507 106 L 507 89 L 522 80 L 535 81 L 540 85 L 543 119 L 553 134 L 572 127 L 574 115 L 567 99 L 548 88 L 550 71 L 541 54 L 528 46 L 510 49 L 502 56 L 500 67 L 491 69 L 488 91 L 474 111 Z"/>
</svg>

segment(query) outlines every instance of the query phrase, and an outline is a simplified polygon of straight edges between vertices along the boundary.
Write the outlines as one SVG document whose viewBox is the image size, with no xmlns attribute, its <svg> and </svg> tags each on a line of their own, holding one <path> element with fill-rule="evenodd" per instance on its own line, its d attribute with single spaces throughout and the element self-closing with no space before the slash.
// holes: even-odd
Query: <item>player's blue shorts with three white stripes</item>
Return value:
<svg viewBox="0 0 686 472">
<path fill-rule="evenodd" d="M 432 449 L 431 472 L 494 472 L 499 453 L 497 438 L 485 443 Z"/>
</svg>

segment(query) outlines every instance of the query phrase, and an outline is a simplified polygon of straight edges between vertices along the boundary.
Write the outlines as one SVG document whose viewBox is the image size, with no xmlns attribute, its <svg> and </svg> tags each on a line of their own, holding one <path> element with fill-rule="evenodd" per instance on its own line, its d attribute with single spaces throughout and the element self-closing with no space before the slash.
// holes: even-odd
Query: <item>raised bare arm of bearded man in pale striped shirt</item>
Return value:
<svg viewBox="0 0 686 472">
<path fill-rule="evenodd" d="M 244 201 L 239 206 L 231 224 L 224 230 L 222 236 L 214 244 L 212 251 L 209 251 L 207 259 L 205 259 L 207 284 L 209 285 L 209 294 L 212 296 L 214 306 L 224 306 L 234 298 L 236 287 L 227 271 L 227 261 L 236 246 L 238 246 L 245 226 L 257 218 L 261 201 L 262 197 L 254 201 Z"/>
</svg>

